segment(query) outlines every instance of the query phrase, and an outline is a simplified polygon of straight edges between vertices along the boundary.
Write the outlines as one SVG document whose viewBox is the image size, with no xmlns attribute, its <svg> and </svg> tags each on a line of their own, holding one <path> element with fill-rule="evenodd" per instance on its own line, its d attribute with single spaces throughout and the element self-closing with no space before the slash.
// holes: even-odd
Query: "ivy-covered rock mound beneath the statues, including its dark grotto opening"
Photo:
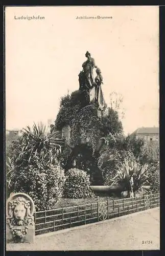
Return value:
<svg viewBox="0 0 165 256">
<path fill-rule="evenodd" d="M 55 128 L 61 131 L 65 125 L 70 126 L 70 145 L 65 146 L 61 164 L 68 170 L 74 167 L 73 161 L 76 161 L 75 167 L 85 170 L 92 184 L 101 185 L 103 179 L 98 167 L 99 152 L 103 143 L 111 141 L 112 135 L 123 132 L 118 113 L 107 108 L 106 115 L 102 112 L 100 118 L 98 106 L 89 102 L 88 93 L 78 90 L 61 98 Z"/>
</svg>

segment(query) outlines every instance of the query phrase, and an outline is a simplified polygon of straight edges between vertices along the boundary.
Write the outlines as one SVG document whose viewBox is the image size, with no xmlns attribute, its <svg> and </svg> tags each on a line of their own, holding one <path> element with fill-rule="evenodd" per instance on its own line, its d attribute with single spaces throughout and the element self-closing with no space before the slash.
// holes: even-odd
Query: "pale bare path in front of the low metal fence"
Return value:
<svg viewBox="0 0 165 256">
<path fill-rule="evenodd" d="M 7 244 L 7 250 L 159 249 L 159 208 L 35 237 L 34 244 Z M 150 241 L 143 244 L 143 241 Z M 150 243 L 150 244 L 149 244 Z"/>
</svg>

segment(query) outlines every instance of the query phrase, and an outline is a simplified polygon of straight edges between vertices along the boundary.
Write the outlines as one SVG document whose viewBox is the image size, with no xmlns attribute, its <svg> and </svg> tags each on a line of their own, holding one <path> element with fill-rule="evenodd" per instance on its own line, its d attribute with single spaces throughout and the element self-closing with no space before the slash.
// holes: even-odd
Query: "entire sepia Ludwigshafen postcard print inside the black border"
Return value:
<svg viewBox="0 0 165 256">
<path fill-rule="evenodd" d="M 159 7 L 4 11 L 6 251 L 160 250 Z"/>
</svg>

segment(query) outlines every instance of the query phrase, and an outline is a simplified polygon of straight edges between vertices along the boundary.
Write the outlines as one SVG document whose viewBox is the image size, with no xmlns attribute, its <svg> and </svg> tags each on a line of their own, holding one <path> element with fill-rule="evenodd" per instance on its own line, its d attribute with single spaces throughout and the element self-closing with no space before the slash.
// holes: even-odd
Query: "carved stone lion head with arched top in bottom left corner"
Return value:
<svg viewBox="0 0 165 256">
<path fill-rule="evenodd" d="M 7 200 L 7 242 L 33 242 L 35 210 L 33 200 L 24 193 L 12 194 Z"/>
</svg>

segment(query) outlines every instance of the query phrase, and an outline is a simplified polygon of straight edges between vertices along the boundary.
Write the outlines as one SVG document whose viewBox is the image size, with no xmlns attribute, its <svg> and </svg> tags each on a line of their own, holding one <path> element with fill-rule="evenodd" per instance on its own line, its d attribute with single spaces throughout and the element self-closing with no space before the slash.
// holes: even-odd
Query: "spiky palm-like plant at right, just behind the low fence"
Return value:
<svg viewBox="0 0 165 256">
<path fill-rule="evenodd" d="M 126 190 L 131 190 L 131 178 L 133 177 L 132 189 L 138 190 L 140 187 L 148 183 L 149 168 L 148 164 L 140 165 L 136 161 L 124 160 L 123 163 L 117 165 L 115 177 L 111 180 L 111 185 L 122 185 Z"/>
</svg>

